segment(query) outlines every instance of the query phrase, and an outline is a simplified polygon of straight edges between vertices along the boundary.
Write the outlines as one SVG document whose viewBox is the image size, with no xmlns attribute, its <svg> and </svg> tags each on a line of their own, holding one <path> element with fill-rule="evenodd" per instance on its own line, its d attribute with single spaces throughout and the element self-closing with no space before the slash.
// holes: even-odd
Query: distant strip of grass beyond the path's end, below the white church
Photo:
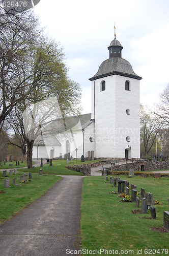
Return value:
<svg viewBox="0 0 169 256">
<path fill-rule="evenodd" d="M 98 160 L 92 160 L 92 161 L 87 161 L 86 160 L 84 164 L 93 163 L 93 162 L 98 162 Z M 21 171 L 24 172 L 24 173 L 29 172 L 29 173 L 38 173 L 39 174 L 39 170 L 41 168 L 43 170 L 44 174 L 82 175 L 82 176 L 84 176 L 82 173 L 78 173 L 78 172 L 75 172 L 73 170 L 69 170 L 65 167 L 66 165 L 75 165 L 75 164 L 77 164 L 77 165 L 82 164 L 81 160 L 77 159 L 77 163 L 76 163 L 76 160 L 73 159 L 73 162 L 70 163 L 70 161 L 69 161 L 69 164 L 67 164 L 66 160 L 64 160 L 64 159 L 63 160 L 52 160 L 52 166 L 49 166 L 49 164 L 45 163 L 42 168 L 40 166 L 35 167 L 33 169 L 24 168 L 24 169 L 21 169 Z"/>
</svg>

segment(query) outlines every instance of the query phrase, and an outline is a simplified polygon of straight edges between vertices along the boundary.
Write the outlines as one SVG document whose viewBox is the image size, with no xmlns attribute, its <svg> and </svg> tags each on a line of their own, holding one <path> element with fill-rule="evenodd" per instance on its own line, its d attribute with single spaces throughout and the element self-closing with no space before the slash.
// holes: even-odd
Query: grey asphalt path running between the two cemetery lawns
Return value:
<svg viewBox="0 0 169 256">
<path fill-rule="evenodd" d="M 83 176 L 64 176 L 1 224 L 0 255 L 66 256 L 66 249 L 78 249 L 82 180 Z"/>
</svg>

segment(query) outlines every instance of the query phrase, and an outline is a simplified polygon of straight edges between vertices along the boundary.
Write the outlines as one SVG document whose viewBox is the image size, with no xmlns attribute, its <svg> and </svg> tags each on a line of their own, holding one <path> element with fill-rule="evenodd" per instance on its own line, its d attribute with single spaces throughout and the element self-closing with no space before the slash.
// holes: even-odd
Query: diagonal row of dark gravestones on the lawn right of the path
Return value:
<svg viewBox="0 0 169 256">
<path fill-rule="evenodd" d="M 105 175 L 105 172 L 104 172 Z M 129 196 L 129 182 L 126 180 L 120 180 L 119 178 L 112 178 L 110 176 L 110 183 L 116 187 L 118 182 L 118 193 L 125 193 Z M 137 186 L 131 184 L 131 200 L 135 202 L 135 206 L 139 208 L 139 198 L 137 197 L 137 190 L 135 189 Z M 125 192 L 124 192 L 125 191 Z M 147 206 L 148 203 L 150 204 L 150 214 L 151 219 L 156 219 L 156 209 L 155 207 L 151 206 L 153 204 L 153 194 L 148 192 L 146 193 L 146 189 L 141 187 L 141 199 L 142 199 L 142 212 L 143 214 L 147 214 Z M 168 209 L 169 209 L 169 199 L 168 199 Z M 169 211 L 163 212 L 163 227 L 166 231 L 169 232 Z"/>
</svg>

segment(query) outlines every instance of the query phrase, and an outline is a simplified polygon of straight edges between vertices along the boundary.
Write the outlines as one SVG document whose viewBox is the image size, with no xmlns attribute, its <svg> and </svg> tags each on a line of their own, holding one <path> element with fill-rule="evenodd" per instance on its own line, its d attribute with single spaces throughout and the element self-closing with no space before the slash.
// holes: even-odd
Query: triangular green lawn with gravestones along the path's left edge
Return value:
<svg viewBox="0 0 169 256">
<path fill-rule="evenodd" d="M 39 174 L 32 174 L 32 180 L 26 183 L 20 183 L 20 176 L 23 173 L 17 173 L 17 175 L 9 175 L 8 177 L 0 177 L 0 223 L 10 219 L 17 214 L 18 211 L 29 205 L 40 196 L 44 195 L 46 191 L 52 187 L 56 182 L 62 179 L 62 177 L 54 175 L 40 176 Z M 27 175 L 29 180 L 29 175 Z M 22 186 L 14 186 L 13 178 L 17 178 L 17 184 Z M 4 180 L 10 179 L 10 187 L 4 188 Z"/>
</svg>

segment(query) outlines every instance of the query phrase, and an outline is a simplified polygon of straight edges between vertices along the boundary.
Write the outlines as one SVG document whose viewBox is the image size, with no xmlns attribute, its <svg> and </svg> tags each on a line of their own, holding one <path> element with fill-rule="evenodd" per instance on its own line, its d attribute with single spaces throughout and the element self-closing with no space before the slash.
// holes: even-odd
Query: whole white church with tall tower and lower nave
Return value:
<svg viewBox="0 0 169 256">
<path fill-rule="evenodd" d="M 122 58 L 120 42 L 111 41 L 92 82 L 90 114 L 67 117 L 66 129 L 40 135 L 34 142 L 33 158 L 73 158 L 88 151 L 98 158 L 140 158 L 139 81 L 130 63 Z"/>
</svg>

